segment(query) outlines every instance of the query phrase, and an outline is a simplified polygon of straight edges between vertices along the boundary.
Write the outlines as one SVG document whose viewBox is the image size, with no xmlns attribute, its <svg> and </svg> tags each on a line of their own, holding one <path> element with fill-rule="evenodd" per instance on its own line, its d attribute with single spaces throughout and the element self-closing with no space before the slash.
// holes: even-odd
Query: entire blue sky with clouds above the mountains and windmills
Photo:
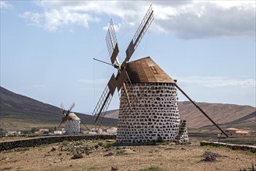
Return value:
<svg viewBox="0 0 256 171">
<path fill-rule="evenodd" d="M 150 56 L 196 102 L 256 106 L 254 1 L 1 0 L 1 86 L 91 113 L 116 73 L 93 61 L 110 61 L 110 19 L 122 61 L 151 3 L 155 19 L 131 61 Z"/>
</svg>

